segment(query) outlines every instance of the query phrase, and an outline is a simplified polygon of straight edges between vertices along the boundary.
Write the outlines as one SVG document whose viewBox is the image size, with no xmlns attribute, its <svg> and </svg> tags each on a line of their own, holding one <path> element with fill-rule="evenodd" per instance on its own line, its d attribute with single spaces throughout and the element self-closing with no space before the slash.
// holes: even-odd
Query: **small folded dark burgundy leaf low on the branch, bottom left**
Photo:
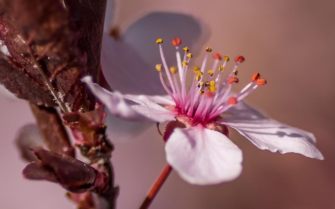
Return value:
<svg viewBox="0 0 335 209">
<path fill-rule="evenodd" d="M 22 174 L 27 179 L 57 182 L 73 193 L 102 192 L 108 178 L 93 167 L 65 154 L 43 149 L 35 150 L 40 160 L 26 166 Z"/>
</svg>

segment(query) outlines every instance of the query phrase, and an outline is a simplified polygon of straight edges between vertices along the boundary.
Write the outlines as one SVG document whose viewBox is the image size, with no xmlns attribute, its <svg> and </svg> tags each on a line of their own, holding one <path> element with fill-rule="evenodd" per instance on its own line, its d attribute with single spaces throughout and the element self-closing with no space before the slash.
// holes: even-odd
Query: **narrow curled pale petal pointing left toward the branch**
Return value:
<svg viewBox="0 0 335 209">
<path fill-rule="evenodd" d="M 140 101 L 120 93 L 110 92 L 92 83 L 92 78 L 89 76 L 82 78 L 82 81 L 108 110 L 118 117 L 133 121 L 165 122 L 175 120 L 178 114 L 150 101 Z"/>
</svg>

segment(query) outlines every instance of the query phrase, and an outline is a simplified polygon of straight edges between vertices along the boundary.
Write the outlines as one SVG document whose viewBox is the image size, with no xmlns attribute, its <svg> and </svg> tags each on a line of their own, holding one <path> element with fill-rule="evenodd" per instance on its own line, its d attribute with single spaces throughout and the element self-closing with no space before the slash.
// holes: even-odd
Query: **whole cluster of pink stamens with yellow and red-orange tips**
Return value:
<svg viewBox="0 0 335 209">
<path fill-rule="evenodd" d="M 222 80 L 222 72 L 225 69 L 226 64 L 229 62 L 229 57 L 223 57 L 223 64 L 218 66 L 219 61 L 222 60 L 221 54 L 214 54 L 214 63 L 210 70 L 207 71 L 208 78 L 203 80 L 205 67 L 209 53 L 212 51 L 211 47 L 206 47 L 206 55 L 202 62 L 201 67 L 194 67 L 193 72 L 195 73 L 192 86 L 189 91 L 186 91 L 186 73 L 188 66 L 193 55 L 189 53 L 190 48 L 184 47 L 184 59 L 182 61 L 181 54 L 179 52 L 179 45 L 181 44 L 180 38 L 174 38 L 172 44 L 176 47 L 176 58 L 177 67 L 168 68 L 162 49 L 162 39 L 157 39 L 156 43 L 159 44 L 159 52 L 162 60 L 162 65 L 156 65 L 156 70 L 159 72 L 160 81 L 165 91 L 171 96 L 173 101 L 176 103 L 176 108 L 180 114 L 187 115 L 194 121 L 208 123 L 211 120 L 217 118 L 220 114 L 226 111 L 231 106 L 237 104 L 243 98 L 253 92 L 258 86 L 266 84 L 265 79 L 261 79 L 259 73 L 254 73 L 251 82 L 245 86 L 240 92 L 227 99 L 230 93 L 231 86 L 233 83 L 238 83 L 239 79 L 236 78 L 238 75 L 239 64 L 245 61 L 243 56 L 237 56 L 235 58 L 235 65 L 229 73 L 228 77 Z M 172 91 L 167 87 L 162 76 L 162 69 L 164 68 L 167 80 L 171 86 Z M 214 76 L 215 70 L 218 69 L 218 74 Z M 179 79 L 177 78 L 177 72 Z"/>
</svg>

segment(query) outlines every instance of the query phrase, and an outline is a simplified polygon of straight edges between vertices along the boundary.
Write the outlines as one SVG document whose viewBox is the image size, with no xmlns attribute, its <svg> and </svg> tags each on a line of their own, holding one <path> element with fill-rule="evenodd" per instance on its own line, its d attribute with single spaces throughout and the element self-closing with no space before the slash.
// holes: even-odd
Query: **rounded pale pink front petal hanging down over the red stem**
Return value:
<svg viewBox="0 0 335 209">
<path fill-rule="evenodd" d="M 165 145 L 166 160 L 187 182 L 218 184 L 242 172 L 242 151 L 225 135 L 204 128 L 175 128 Z"/>
</svg>

